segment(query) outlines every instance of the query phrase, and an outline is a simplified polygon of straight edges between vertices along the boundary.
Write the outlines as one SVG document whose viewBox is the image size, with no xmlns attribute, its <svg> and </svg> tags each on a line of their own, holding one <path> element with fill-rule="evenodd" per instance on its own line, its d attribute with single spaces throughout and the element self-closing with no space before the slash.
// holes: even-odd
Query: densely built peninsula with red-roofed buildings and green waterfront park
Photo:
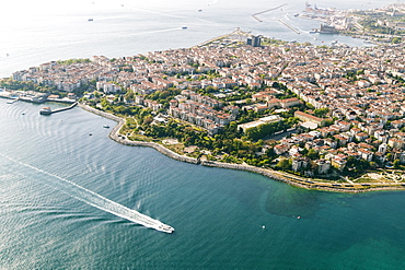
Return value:
<svg viewBox="0 0 405 270">
<path fill-rule="evenodd" d="M 193 48 L 43 63 L 2 80 L 0 96 L 80 98 L 119 122 L 112 139 L 184 162 L 310 189 L 405 189 L 404 60 L 400 45 L 236 30 Z"/>
</svg>

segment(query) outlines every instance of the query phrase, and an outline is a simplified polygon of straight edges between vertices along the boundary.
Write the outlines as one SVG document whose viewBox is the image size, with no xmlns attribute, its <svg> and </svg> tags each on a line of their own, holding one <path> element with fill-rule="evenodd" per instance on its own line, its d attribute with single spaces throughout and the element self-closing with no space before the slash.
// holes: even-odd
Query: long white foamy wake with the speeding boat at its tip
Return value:
<svg viewBox="0 0 405 270">
<path fill-rule="evenodd" d="M 115 214 L 119 218 L 123 218 L 123 219 L 126 219 L 128 221 L 131 221 L 131 222 L 135 222 L 137 224 L 140 224 L 140 225 L 143 225 L 146 227 L 151 227 L 151 228 L 154 228 L 154 230 L 158 230 L 158 231 L 161 231 L 161 232 L 165 232 L 165 233 L 173 233 L 174 232 L 174 228 L 166 225 L 166 224 L 163 224 L 162 222 L 160 222 L 159 220 L 154 220 L 146 214 L 142 214 L 136 210 L 132 210 L 132 209 L 129 209 L 127 207 L 124 207 L 123 204 L 119 204 L 115 201 L 112 201 L 96 192 L 93 192 L 86 188 L 83 188 L 68 179 L 65 179 L 60 176 L 57 176 L 57 175 L 54 175 L 54 174 L 50 174 L 48 172 L 45 172 L 40 168 L 37 168 L 35 166 L 32 166 L 30 164 L 26 164 L 26 163 L 23 163 L 21 161 L 16 161 L 14 159 L 11 159 L 9 156 L 5 156 L 3 154 L 0 153 L 1 156 L 8 159 L 9 161 L 12 161 L 14 163 L 18 163 L 20 165 L 23 165 L 25 167 L 28 167 L 28 168 L 32 168 L 36 172 L 39 172 L 42 174 L 45 174 L 45 175 L 48 175 L 48 176 L 51 176 L 56 179 L 58 179 L 58 181 L 51 181 L 49 183 L 48 185 L 51 186 L 51 187 L 56 187 L 58 190 L 69 195 L 70 197 L 74 198 L 74 199 L 78 199 L 80 201 L 83 201 L 92 207 L 95 207 L 97 209 L 101 209 L 103 211 L 106 211 L 108 213 L 112 213 L 112 214 Z"/>
</svg>

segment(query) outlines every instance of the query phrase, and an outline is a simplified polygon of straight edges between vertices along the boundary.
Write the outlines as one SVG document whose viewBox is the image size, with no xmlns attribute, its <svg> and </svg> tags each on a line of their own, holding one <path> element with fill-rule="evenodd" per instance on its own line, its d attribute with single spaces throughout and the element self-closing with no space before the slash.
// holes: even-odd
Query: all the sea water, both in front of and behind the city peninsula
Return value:
<svg viewBox="0 0 405 270">
<path fill-rule="evenodd" d="M 372 9 L 390 2 L 310 3 Z M 339 35 L 315 34 L 315 40 L 309 31 L 320 22 L 293 16 L 304 4 L 2 1 L 0 78 L 50 60 L 187 48 L 235 27 L 284 40 L 367 45 Z M 261 14 L 261 23 L 252 17 L 280 5 Z M 182 163 L 112 141 L 103 126 L 116 122 L 80 107 L 42 116 L 42 106 L 0 99 L 0 269 L 405 269 L 403 191 L 305 190 Z M 111 202 L 175 232 L 111 213 Z"/>
</svg>

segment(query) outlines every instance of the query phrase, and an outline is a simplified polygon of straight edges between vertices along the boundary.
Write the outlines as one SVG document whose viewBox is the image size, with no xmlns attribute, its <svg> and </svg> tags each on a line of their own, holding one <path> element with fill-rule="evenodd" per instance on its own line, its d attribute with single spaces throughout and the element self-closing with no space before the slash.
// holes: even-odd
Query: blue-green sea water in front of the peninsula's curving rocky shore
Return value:
<svg viewBox="0 0 405 270">
<path fill-rule="evenodd" d="M 405 267 L 404 192 L 309 191 L 181 163 L 115 143 L 114 122 L 79 107 L 39 108 L 0 99 L 0 269 Z M 176 231 L 94 208 L 59 178 Z"/>
</svg>

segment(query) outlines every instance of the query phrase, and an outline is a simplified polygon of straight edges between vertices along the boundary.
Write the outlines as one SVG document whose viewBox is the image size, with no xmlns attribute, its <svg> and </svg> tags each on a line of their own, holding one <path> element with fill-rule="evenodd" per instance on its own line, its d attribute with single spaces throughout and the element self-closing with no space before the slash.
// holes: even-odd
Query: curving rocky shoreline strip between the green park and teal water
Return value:
<svg viewBox="0 0 405 270">
<path fill-rule="evenodd" d="M 256 173 L 256 174 L 266 176 L 268 178 L 271 178 L 274 180 L 284 181 L 290 186 L 304 188 L 304 189 L 312 189 L 312 190 L 346 192 L 346 193 L 360 193 L 360 192 L 368 192 L 368 191 L 386 191 L 386 190 L 398 190 L 398 191 L 405 190 L 405 186 L 402 186 L 398 184 L 389 185 L 389 184 L 373 183 L 373 184 L 367 184 L 368 186 L 363 186 L 366 184 L 349 185 L 349 184 L 321 183 L 321 181 L 313 181 L 314 179 L 311 179 L 311 178 L 303 178 L 303 177 L 296 176 L 289 173 L 267 169 L 267 168 L 259 168 L 259 167 L 255 167 L 255 166 L 251 166 L 246 164 L 241 165 L 241 164 L 222 163 L 222 162 L 215 162 L 215 161 L 199 161 L 198 159 L 177 154 L 173 152 L 172 150 L 159 143 L 155 143 L 155 142 L 130 141 L 130 140 L 127 140 L 126 138 L 121 138 L 118 134 L 119 134 L 119 130 L 125 125 L 125 119 L 118 116 L 115 116 L 113 114 L 95 109 L 84 104 L 79 104 L 79 106 L 86 111 L 93 113 L 95 115 L 100 115 L 102 117 L 105 117 L 107 119 L 111 119 L 117 122 L 117 125 L 112 129 L 112 131 L 108 134 L 109 139 L 120 144 L 124 144 L 124 145 L 152 148 L 159 151 L 160 153 L 173 160 L 176 160 L 176 161 L 208 166 L 208 167 L 220 167 L 220 168 L 238 169 L 238 171 Z"/>
</svg>

